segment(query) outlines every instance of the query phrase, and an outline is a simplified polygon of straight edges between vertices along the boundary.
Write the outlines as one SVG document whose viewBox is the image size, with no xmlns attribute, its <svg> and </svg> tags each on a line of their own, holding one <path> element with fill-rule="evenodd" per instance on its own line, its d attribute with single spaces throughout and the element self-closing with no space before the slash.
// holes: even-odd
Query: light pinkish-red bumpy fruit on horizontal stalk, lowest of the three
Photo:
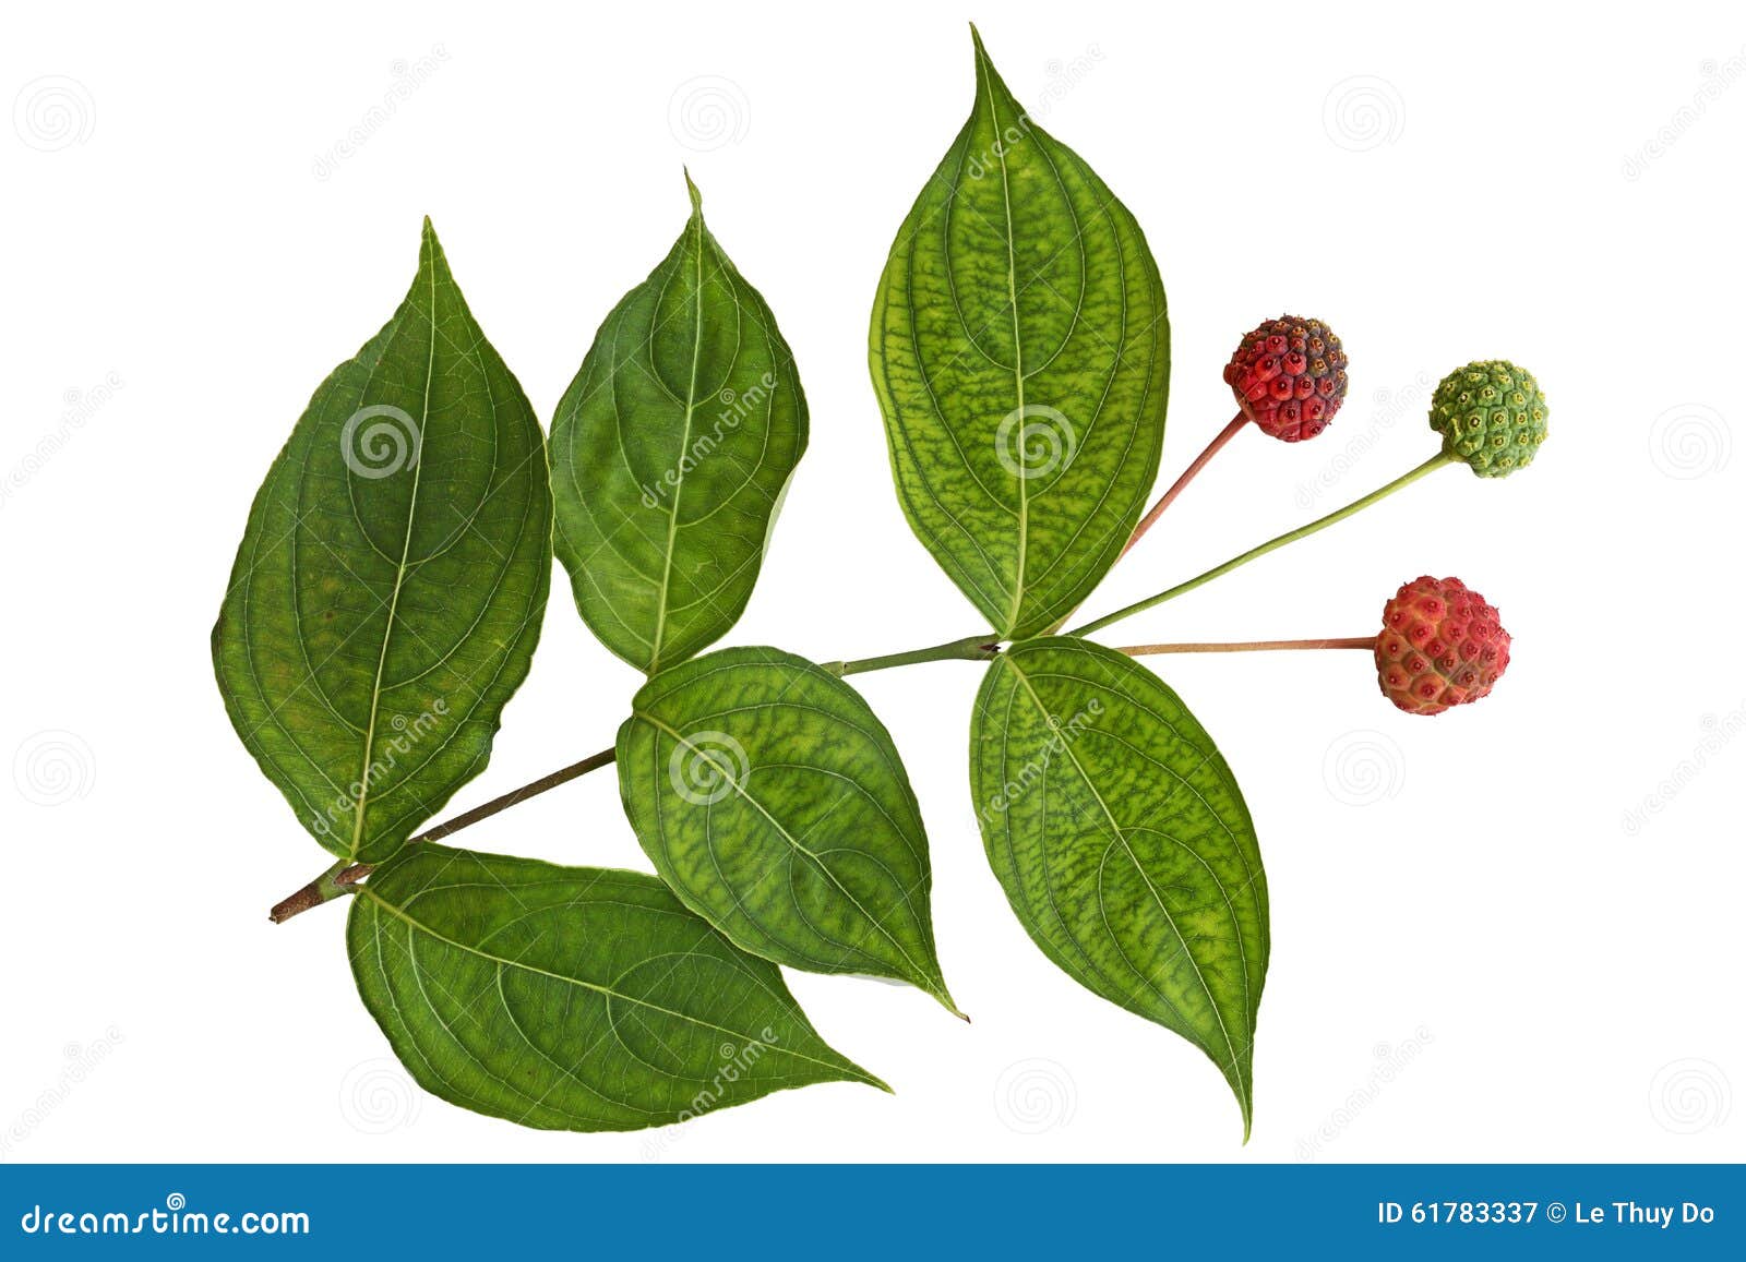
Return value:
<svg viewBox="0 0 1746 1262">
<path fill-rule="evenodd" d="M 1442 714 L 1477 702 L 1510 663 L 1498 611 L 1458 578 L 1416 578 L 1383 606 L 1376 674 L 1407 714 Z"/>
</svg>

